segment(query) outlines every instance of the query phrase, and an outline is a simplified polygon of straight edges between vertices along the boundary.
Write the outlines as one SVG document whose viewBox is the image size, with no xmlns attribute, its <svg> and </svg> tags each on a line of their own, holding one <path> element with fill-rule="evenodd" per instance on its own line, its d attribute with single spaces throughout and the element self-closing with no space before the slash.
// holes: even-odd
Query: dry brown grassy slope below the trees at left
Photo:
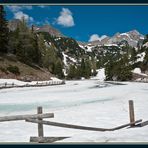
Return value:
<svg viewBox="0 0 148 148">
<path fill-rule="evenodd" d="M 17 66 L 20 75 L 15 75 L 7 71 L 9 66 Z M 49 80 L 51 73 L 42 68 L 28 66 L 16 59 L 14 55 L 0 56 L 0 78 L 15 78 L 21 80 Z"/>
</svg>

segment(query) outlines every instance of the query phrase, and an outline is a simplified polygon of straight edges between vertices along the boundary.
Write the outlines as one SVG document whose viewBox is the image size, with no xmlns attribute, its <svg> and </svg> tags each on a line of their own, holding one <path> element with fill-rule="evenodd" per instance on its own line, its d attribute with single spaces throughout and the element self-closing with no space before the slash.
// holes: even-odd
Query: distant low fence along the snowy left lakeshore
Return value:
<svg viewBox="0 0 148 148">
<path fill-rule="evenodd" d="M 23 88 L 23 87 L 43 87 L 43 86 L 53 86 L 53 85 L 63 85 L 65 81 L 48 81 L 48 82 L 36 82 L 35 84 L 26 83 L 24 85 L 18 85 L 15 83 L 0 83 L 0 89 L 5 88 Z"/>
</svg>

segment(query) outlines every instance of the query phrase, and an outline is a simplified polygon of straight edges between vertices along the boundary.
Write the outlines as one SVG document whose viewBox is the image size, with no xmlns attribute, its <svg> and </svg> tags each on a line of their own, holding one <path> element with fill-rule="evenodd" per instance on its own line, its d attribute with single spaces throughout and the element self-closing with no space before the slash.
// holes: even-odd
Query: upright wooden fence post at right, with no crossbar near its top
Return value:
<svg viewBox="0 0 148 148">
<path fill-rule="evenodd" d="M 134 114 L 134 102 L 133 100 L 129 100 L 129 117 L 130 117 L 130 123 L 131 127 L 135 126 L 135 114 Z"/>
</svg>

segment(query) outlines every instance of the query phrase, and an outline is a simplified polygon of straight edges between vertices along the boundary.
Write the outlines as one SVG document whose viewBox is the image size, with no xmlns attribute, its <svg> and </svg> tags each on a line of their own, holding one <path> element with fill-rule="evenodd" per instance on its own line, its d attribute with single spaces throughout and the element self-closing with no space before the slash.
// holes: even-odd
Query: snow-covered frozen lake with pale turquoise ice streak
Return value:
<svg viewBox="0 0 148 148">
<path fill-rule="evenodd" d="M 102 82 L 101 82 L 102 83 Z M 66 81 L 65 85 L 0 90 L 0 116 L 54 113 L 46 119 L 69 124 L 112 128 L 129 123 L 128 100 L 134 100 L 135 118 L 148 120 L 148 84 L 99 87 L 98 80 Z M 0 142 L 29 142 L 37 125 L 25 121 L 0 123 Z M 147 142 L 148 126 L 109 132 L 94 132 L 44 125 L 44 136 L 71 137 L 59 142 Z"/>
</svg>

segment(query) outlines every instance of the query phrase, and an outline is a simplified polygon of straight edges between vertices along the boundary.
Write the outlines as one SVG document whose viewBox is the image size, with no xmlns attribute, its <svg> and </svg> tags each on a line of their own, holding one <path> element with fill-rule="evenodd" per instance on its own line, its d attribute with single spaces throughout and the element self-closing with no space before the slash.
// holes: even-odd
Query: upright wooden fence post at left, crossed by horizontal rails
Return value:
<svg viewBox="0 0 148 148">
<path fill-rule="evenodd" d="M 37 108 L 37 113 L 38 114 L 42 114 L 43 110 L 42 107 L 39 106 Z M 42 121 L 42 118 L 38 118 L 39 121 Z M 38 123 L 38 137 L 43 137 L 44 136 L 44 132 L 43 132 L 43 124 L 42 123 Z"/>
</svg>

